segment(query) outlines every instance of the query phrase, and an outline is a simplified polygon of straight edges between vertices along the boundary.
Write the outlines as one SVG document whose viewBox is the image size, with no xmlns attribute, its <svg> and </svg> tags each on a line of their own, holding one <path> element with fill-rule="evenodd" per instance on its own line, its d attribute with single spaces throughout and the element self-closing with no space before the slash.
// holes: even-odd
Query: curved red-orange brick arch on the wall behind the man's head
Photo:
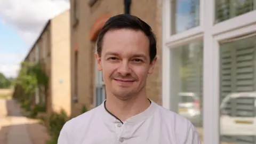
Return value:
<svg viewBox="0 0 256 144">
<path fill-rule="evenodd" d="M 100 29 L 104 26 L 105 22 L 111 17 L 110 14 L 103 14 L 97 18 L 90 29 L 90 40 L 95 41 Z"/>
</svg>

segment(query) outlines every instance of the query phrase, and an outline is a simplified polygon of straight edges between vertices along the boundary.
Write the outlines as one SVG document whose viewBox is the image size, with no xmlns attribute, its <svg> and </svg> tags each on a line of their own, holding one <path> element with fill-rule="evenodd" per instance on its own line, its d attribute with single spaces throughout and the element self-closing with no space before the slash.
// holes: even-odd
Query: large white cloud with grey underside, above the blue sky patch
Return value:
<svg viewBox="0 0 256 144">
<path fill-rule="evenodd" d="M 33 44 L 45 22 L 69 9 L 67 0 L 0 0 L 0 16 L 29 44 Z"/>
</svg>

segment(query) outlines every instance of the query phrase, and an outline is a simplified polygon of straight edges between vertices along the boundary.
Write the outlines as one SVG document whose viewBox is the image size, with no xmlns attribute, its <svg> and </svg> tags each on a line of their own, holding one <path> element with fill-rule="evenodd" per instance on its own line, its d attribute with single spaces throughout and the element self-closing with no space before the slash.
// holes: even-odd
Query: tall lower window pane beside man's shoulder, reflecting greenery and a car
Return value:
<svg viewBox="0 0 256 144">
<path fill-rule="evenodd" d="M 171 50 L 171 110 L 186 117 L 203 140 L 203 42 Z"/>
</svg>

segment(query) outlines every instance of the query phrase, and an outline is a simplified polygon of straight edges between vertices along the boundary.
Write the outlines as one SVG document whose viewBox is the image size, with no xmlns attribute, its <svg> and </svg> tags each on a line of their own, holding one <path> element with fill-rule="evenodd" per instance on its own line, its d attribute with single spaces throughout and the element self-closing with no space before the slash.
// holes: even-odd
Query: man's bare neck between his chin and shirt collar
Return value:
<svg viewBox="0 0 256 144">
<path fill-rule="evenodd" d="M 107 93 L 106 109 L 122 122 L 134 115 L 142 113 L 149 106 L 150 101 L 146 97 L 146 90 L 127 100 L 120 100 L 115 95 Z"/>
</svg>

